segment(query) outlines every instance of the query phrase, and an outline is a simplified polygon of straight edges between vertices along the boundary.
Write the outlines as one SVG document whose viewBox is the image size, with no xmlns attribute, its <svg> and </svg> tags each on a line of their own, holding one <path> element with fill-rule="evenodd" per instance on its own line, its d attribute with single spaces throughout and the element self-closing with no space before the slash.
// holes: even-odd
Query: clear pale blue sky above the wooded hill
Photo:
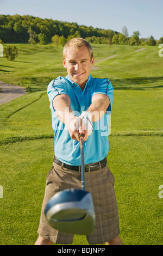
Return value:
<svg viewBox="0 0 163 256">
<path fill-rule="evenodd" d="M 32 15 L 93 28 L 139 31 L 140 38 L 163 36 L 163 0 L 0 0 L 0 14 Z"/>
</svg>

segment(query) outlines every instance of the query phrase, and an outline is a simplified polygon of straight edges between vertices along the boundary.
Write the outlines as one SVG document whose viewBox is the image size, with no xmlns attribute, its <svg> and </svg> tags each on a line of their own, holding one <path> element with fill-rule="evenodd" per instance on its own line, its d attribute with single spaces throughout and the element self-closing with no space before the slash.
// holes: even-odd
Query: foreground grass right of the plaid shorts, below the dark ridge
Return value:
<svg viewBox="0 0 163 256">
<path fill-rule="evenodd" d="M 122 240 L 126 245 L 162 245 L 160 137 L 112 136 L 110 147 Z"/>
</svg>

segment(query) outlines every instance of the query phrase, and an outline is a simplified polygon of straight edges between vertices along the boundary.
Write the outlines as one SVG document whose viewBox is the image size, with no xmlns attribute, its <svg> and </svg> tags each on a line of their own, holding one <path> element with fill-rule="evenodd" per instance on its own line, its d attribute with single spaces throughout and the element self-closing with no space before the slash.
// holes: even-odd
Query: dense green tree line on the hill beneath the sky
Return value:
<svg viewBox="0 0 163 256">
<path fill-rule="evenodd" d="M 41 19 L 31 15 L 0 15 L 0 39 L 4 43 L 54 44 L 64 46 L 74 37 L 82 37 L 90 43 L 96 44 L 128 44 L 128 45 L 156 45 L 163 43 L 163 37 L 155 40 L 140 38 L 139 31 L 128 35 L 126 26 L 121 32 L 111 29 L 93 28 L 78 25 L 76 22 L 64 22 L 52 19 Z"/>
</svg>

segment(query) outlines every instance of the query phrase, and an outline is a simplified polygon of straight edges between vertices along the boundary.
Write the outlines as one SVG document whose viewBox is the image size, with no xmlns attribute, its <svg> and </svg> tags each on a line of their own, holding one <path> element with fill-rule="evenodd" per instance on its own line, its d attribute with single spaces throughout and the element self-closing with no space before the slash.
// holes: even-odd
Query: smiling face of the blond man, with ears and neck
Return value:
<svg viewBox="0 0 163 256">
<path fill-rule="evenodd" d="M 67 49 L 66 58 L 63 59 L 64 68 L 67 68 L 70 79 L 81 88 L 84 88 L 85 82 L 88 80 L 93 63 L 94 58 L 90 60 L 89 50 L 85 46 L 79 49 L 70 46 Z"/>
</svg>

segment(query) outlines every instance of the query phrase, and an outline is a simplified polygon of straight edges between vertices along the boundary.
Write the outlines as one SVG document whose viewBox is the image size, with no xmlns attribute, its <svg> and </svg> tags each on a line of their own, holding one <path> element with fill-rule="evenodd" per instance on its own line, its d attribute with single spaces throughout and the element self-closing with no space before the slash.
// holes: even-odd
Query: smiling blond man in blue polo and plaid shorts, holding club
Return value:
<svg viewBox="0 0 163 256">
<path fill-rule="evenodd" d="M 43 210 L 55 193 L 67 188 L 81 188 L 79 133 L 84 135 L 85 188 L 92 194 L 96 212 L 96 228 L 87 236 L 87 241 L 90 245 L 105 242 L 106 245 L 122 245 L 118 236 L 114 176 L 106 164 L 108 113 L 111 113 L 113 88 L 107 78 L 97 79 L 90 75 L 93 63 L 92 47 L 87 41 L 82 38 L 68 41 L 63 52 L 63 65 L 68 75 L 58 77 L 48 86 L 55 157 L 47 175 L 35 245 L 73 242 L 73 235 L 48 225 Z M 87 169 L 91 171 L 86 172 Z"/>
</svg>

